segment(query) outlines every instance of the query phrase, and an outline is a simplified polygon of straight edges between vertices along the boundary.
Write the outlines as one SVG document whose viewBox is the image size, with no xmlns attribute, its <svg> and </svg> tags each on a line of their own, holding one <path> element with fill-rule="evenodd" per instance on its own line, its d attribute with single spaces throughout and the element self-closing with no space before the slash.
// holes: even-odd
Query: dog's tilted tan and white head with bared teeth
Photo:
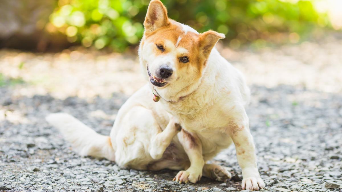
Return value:
<svg viewBox="0 0 342 192">
<path fill-rule="evenodd" d="M 159 0 L 150 1 L 139 56 L 150 83 L 158 89 L 184 88 L 203 75 L 206 61 L 224 35 L 195 29 L 168 18 Z"/>
</svg>

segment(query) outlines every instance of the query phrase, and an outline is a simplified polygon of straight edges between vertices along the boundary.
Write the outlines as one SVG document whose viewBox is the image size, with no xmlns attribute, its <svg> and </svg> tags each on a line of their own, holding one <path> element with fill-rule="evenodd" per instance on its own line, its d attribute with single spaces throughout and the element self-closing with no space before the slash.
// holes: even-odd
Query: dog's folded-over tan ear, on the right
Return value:
<svg viewBox="0 0 342 192">
<path fill-rule="evenodd" d="M 225 38 L 223 33 L 218 33 L 212 30 L 199 34 L 201 55 L 203 55 L 205 58 L 208 58 L 215 44 L 223 38 Z"/>
</svg>

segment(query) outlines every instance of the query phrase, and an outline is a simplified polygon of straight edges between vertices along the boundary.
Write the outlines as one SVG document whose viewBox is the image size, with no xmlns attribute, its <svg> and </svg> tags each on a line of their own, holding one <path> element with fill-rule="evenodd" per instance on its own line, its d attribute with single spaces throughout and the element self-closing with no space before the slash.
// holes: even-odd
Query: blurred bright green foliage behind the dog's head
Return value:
<svg viewBox="0 0 342 192">
<path fill-rule="evenodd" d="M 311 1 L 281 0 L 163 0 L 169 17 L 199 32 L 213 29 L 226 34 L 233 47 L 263 39 L 298 42 L 313 27 L 327 25 Z M 64 33 L 70 42 L 97 49 L 123 51 L 137 44 L 149 0 L 59 0 L 48 31 Z M 322 19 L 323 18 L 323 19 Z M 320 22 L 320 23 L 319 23 Z M 283 33 L 292 33 L 284 36 Z M 280 39 L 280 40 L 279 40 Z"/>
</svg>

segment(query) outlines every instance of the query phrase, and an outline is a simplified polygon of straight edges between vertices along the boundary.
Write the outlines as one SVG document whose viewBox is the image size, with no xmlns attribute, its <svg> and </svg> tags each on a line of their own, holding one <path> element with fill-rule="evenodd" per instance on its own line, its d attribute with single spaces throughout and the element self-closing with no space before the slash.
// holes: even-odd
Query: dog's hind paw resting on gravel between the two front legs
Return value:
<svg viewBox="0 0 342 192">
<path fill-rule="evenodd" d="M 216 181 L 225 181 L 232 178 L 231 173 L 225 167 L 216 164 L 205 164 L 203 167 L 203 176 Z"/>
</svg>

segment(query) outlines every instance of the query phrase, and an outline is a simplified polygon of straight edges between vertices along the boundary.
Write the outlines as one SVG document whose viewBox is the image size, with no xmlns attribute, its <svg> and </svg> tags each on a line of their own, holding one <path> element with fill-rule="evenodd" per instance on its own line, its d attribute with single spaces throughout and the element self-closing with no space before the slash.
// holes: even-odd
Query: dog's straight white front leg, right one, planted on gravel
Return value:
<svg viewBox="0 0 342 192">
<path fill-rule="evenodd" d="M 265 187 L 261 179 L 256 162 L 253 137 L 248 123 L 240 125 L 232 132 L 238 163 L 242 170 L 242 189 L 259 190 Z"/>
</svg>

